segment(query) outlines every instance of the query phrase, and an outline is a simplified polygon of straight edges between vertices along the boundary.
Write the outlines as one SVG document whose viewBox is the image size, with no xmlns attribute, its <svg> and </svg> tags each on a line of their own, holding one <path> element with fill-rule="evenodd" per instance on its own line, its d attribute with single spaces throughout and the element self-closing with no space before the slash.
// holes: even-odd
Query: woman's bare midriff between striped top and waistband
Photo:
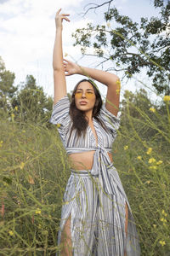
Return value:
<svg viewBox="0 0 170 256">
<path fill-rule="evenodd" d="M 91 170 L 94 161 L 95 151 L 88 151 L 83 153 L 69 154 L 71 168 L 74 170 Z M 112 154 L 107 153 L 111 162 L 113 161 Z"/>
</svg>

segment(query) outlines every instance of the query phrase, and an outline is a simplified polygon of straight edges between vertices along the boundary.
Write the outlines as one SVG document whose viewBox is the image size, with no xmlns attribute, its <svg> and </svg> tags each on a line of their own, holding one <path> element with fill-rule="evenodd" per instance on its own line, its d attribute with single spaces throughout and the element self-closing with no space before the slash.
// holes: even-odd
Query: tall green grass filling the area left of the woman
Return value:
<svg viewBox="0 0 170 256">
<path fill-rule="evenodd" d="M 0 124 L 0 255 L 54 255 L 70 174 L 57 128 Z"/>
</svg>

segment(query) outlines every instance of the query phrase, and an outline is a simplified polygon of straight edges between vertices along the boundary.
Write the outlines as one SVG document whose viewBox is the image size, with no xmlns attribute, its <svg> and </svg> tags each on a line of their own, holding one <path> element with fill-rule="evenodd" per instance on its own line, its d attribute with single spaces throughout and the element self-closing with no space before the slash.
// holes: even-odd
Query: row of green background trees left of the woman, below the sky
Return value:
<svg viewBox="0 0 170 256">
<path fill-rule="evenodd" d="M 41 86 L 37 86 L 32 75 L 26 76 L 26 83 L 14 86 L 14 73 L 6 70 L 0 57 L 0 116 L 18 122 L 31 121 L 48 125 L 53 99 L 46 96 Z"/>
</svg>

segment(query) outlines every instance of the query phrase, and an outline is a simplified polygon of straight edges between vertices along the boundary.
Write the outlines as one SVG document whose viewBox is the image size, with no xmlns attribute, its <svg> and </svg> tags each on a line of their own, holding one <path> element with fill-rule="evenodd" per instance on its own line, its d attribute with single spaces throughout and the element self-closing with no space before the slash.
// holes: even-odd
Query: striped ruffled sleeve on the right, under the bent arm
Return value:
<svg viewBox="0 0 170 256">
<path fill-rule="evenodd" d="M 116 130 L 119 129 L 121 124 L 121 119 L 117 118 L 113 113 L 111 113 L 107 108 L 105 108 L 105 104 L 102 105 L 99 113 L 100 119 L 104 121 L 105 126 L 112 132 L 116 133 Z"/>
</svg>

